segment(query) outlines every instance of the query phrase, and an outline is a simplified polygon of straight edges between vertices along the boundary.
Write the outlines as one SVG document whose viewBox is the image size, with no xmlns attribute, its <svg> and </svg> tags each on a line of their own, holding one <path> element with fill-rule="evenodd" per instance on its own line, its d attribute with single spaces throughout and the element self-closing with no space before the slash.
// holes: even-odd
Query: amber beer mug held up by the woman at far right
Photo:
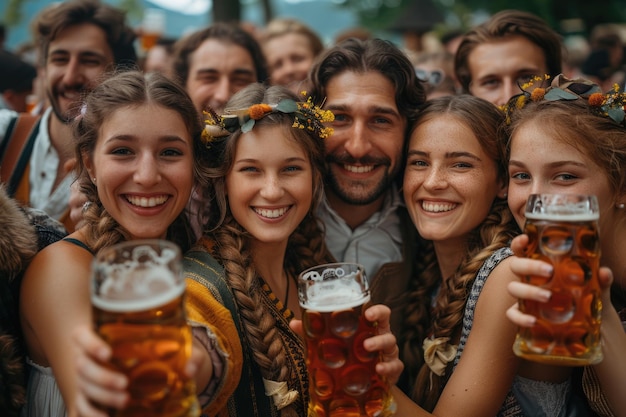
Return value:
<svg viewBox="0 0 626 417">
<path fill-rule="evenodd" d="M 550 278 L 524 282 L 550 290 L 546 303 L 520 300 L 520 310 L 537 318 L 521 328 L 513 350 L 523 358 L 558 365 L 602 361 L 602 302 L 598 269 L 599 209 L 595 196 L 532 194 L 526 204 L 527 256 L 550 263 Z"/>
</svg>

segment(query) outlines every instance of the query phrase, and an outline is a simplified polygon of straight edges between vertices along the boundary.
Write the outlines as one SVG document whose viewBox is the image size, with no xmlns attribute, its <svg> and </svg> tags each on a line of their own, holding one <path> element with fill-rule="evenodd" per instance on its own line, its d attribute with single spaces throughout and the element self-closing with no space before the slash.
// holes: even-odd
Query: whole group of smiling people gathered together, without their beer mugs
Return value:
<svg viewBox="0 0 626 417">
<path fill-rule="evenodd" d="M 92 329 L 89 274 L 100 249 L 143 238 L 186 253 L 187 373 L 206 415 L 307 415 L 295 279 L 335 260 L 365 267 L 379 326 L 364 348 L 380 352 L 397 415 L 626 415 L 626 94 L 590 101 L 591 82 L 560 75 L 560 39 L 541 19 L 504 11 L 470 30 L 455 58 L 463 94 L 428 100 L 380 39 L 309 42 L 310 64 L 281 75 L 302 38 L 272 57 L 216 23 L 176 43 L 171 72 L 147 74 L 112 6 L 72 0 L 36 22 L 48 110 L 0 112 L 0 224 L 27 237 L 0 240 L 2 351 L 27 364 L 2 387 L 8 415 L 127 404 Z M 545 99 L 552 89 L 575 99 Z M 541 192 L 598 197 L 600 364 L 512 351 L 535 321 L 517 300 L 550 297 L 520 282 L 552 273 L 523 256 L 524 205 Z"/>
</svg>

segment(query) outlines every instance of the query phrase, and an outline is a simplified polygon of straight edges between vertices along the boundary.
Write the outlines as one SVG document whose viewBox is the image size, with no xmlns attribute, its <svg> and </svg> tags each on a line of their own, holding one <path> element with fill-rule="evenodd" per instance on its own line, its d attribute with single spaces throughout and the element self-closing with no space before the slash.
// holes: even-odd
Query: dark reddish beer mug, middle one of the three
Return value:
<svg viewBox="0 0 626 417">
<path fill-rule="evenodd" d="M 376 324 L 363 316 L 370 301 L 363 267 L 319 265 L 298 277 L 309 370 L 309 417 L 385 417 L 395 408 L 389 384 L 376 373 L 380 352 L 363 341 Z"/>
</svg>

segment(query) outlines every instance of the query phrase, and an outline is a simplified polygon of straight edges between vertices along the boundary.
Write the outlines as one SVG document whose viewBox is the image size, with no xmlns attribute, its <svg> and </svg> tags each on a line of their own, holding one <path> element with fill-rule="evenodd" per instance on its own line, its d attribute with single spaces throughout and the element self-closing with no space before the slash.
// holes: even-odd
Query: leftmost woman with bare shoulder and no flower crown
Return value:
<svg viewBox="0 0 626 417">
<path fill-rule="evenodd" d="M 87 98 L 74 122 L 77 181 L 90 205 L 85 225 L 40 251 L 20 290 L 28 353 L 26 416 L 75 415 L 71 334 L 89 325 L 90 266 L 103 247 L 127 239 L 191 243 L 183 210 L 202 178 L 202 124 L 177 84 L 140 72 L 113 75 Z"/>
</svg>

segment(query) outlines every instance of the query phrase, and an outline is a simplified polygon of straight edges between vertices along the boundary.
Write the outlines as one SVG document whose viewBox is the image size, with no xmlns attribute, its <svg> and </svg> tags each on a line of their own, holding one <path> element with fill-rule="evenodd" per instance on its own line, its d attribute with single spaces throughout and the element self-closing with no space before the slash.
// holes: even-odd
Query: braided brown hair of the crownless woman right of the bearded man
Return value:
<svg viewBox="0 0 626 417">
<path fill-rule="evenodd" d="M 482 149 L 495 161 L 497 178 L 505 183 L 505 135 L 500 129 L 504 114 L 493 104 L 476 97 L 442 97 L 424 105 L 413 129 L 440 116 L 452 116 L 471 129 Z M 465 305 L 476 274 L 495 250 L 508 245 L 518 233 L 506 200 L 496 198 L 487 217 L 469 234 L 465 243 L 466 255 L 452 276 L 441 276 L 433 244 L 424 246 L 425 250 L 420 254 L 423 260 L 406 310 L 408 322 L 403 331 L 402 357 L 407 368 L 406 389 L 412 399 L 426 410 L 434 409 L 453 365 L 448 364 L 443 376 L 433 373 L 424 362 L 424 338 L 449 337 L 451 345 L 458 344 Z M 435 293 L 433 306 L 431 300 Z"/>
</svg>

